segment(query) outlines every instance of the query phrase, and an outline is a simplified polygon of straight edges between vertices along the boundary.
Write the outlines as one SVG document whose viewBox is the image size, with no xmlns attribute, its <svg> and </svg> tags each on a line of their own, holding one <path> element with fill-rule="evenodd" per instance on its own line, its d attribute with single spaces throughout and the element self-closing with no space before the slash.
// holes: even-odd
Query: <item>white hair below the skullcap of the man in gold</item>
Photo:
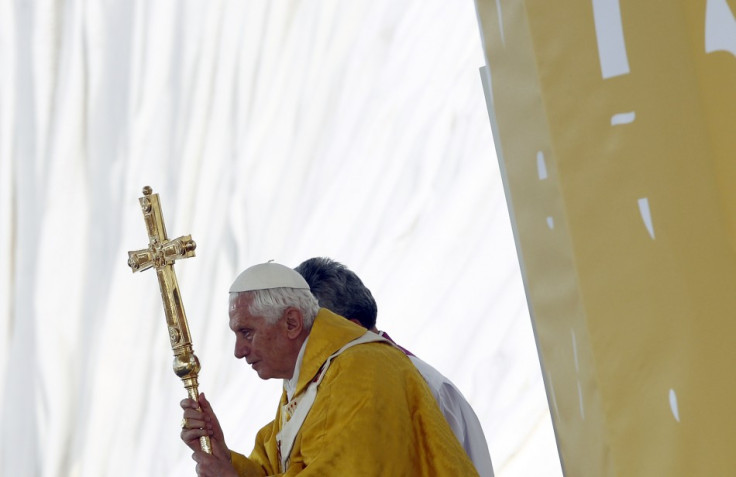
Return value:
<svg viewBox="0 0 736 477">
<path fill-rule="evenodd" d="M 253 300 L 248 311 L 251 315 L 262 316 L 267 322 L 274 324 L 284 314 L 284 310 L 293 306 L 298 308 L 304 316 L 304 327 L 312 329 L 314 317 L 319 312 L 319 304 L 312 292 L 300 288 L 269 288 L 266 290 L 252 290 L 241 293 L 250 293 Z"/>
</svg>

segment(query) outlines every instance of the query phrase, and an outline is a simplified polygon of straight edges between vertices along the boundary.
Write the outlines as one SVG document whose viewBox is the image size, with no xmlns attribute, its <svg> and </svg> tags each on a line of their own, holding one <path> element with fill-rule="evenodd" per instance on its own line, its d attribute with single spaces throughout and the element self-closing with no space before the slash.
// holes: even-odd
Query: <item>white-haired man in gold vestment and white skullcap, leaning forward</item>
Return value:
<svg viewBox="0 0 736 477">
<path fill-rule="evenodd" d="M 281 378 L 276 419 L 249 457 L 230 452 L 212 408 L 182 401 L 199 476 L 477 475 L 406 356 L 324 308 L 294 270 L 248 268 L 230 288 L 235 357 Z M 201 410 L 200 410 L 201 407 Z M 213 453 L 199 448 L 209 435 Z"/>
</svg>

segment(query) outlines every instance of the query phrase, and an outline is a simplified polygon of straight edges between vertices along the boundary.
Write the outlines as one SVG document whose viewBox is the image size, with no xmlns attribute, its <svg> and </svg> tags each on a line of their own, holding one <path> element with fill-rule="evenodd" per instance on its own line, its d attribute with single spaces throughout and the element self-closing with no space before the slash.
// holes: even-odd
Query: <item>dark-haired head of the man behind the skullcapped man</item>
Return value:
<svg viewBox="0 0 736 477">
<path fill-rule="evenodd" d="M 304 277 L 319 306 L 357 320 L 369 330 L 376 326 L 378 307 L 371 291 L 342 263 L 325 257 L 305 260 L 294 270 Z"/>
</svg>

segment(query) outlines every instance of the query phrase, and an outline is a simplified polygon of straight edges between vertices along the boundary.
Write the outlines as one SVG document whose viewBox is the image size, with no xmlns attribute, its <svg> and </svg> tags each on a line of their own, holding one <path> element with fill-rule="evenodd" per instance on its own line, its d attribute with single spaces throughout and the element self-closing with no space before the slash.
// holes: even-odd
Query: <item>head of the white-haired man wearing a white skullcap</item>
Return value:
<svg viewBox="0 0 736 477">
<path fill-rule="evenodd" d="M 272 262 L 246 269 L 230 287 L 235 357 L 245 358 L 261 379 L 291 378 L 318 310 L 294 270 Z"/>
</svg>

